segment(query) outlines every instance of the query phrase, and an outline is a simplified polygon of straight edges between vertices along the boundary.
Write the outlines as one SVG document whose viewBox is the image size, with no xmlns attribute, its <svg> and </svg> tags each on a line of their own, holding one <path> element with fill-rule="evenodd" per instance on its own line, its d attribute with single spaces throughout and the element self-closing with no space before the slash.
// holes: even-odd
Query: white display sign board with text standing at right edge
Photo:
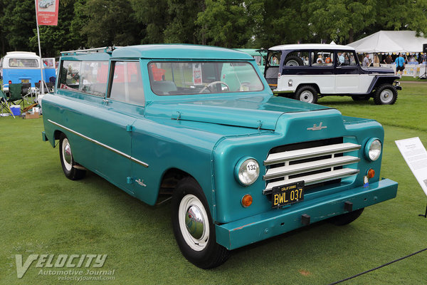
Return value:
<svg viewBox="0 0 427 285">
<path fill-rule="evenodd" d="M 427 195 L 427 151 L 420 138 L 396 140 L 396 145 Z"/>
</svg>

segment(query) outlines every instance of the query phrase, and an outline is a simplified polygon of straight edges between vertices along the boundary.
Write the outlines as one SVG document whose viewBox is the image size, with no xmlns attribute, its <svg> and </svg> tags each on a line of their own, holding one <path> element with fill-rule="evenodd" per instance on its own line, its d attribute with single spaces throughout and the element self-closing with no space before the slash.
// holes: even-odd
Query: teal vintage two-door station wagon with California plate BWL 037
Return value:
<svg viewBox="0 0 427 285">
<path fill-rule="evenodd" d="M 276 97 L 239 51 L 63 52 L 42 107 L 43 140 L 59 140 L 65 176 L 90 170 L 150 205 L 169 195 L 179 249 L 204 269 L 232 249 L 323 219 L 348 224 L 396 197 L 397 183 L 379 179 L 379 123 Z"/>
</svg>

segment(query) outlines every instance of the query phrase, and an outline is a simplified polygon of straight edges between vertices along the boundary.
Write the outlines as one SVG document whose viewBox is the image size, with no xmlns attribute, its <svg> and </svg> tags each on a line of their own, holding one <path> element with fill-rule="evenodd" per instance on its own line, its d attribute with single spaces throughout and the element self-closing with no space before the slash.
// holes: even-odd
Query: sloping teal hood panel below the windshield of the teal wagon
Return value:
<svg viewBox="0 0 427 285">
<path fill-rule="evenodd" d="M 189 120 L 244 128 L 275 130 L 278 119 L 284 113 L 304 113 L 332 108 L 304 103 L 277 96 L 247 96 L 158 101 L 145 108 L 144 115 L 173 120 Z M 334 113 L 339 113 L 334 110 Z M 340 115 L 340 113 L 339 113 Z"/>
</svg>

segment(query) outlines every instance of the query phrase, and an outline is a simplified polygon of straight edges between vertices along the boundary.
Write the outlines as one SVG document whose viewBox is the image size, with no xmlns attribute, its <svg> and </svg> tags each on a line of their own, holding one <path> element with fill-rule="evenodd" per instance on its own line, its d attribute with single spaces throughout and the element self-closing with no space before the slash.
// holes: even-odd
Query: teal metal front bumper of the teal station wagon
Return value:
<svg viewBox="0 0 427 285">
<path fill-rule="evenodd" d="M 216 242 L 227 249 L 237 249 L 263 239 L 277 236 L 293 229 L 304 227 L 305 217 L 310 216 L 310 223 L 344 214 L 345 202 L 352 203 L 352 210 L 368 207 L 396 197 L 397 182 L 384 179 L 374 182 L 369 187 L 357 187 L 334 195 L 312 199 L 293 204 L 285 209 L 271 209 L 228 224 L 216 225 Z"/>
</svg>

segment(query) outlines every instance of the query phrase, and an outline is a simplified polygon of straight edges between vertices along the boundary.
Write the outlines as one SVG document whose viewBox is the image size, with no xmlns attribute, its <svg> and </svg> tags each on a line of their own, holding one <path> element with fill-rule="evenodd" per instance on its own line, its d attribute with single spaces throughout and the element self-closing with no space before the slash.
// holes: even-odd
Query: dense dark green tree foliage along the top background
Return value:
<svg viewBox="0 0 427 285">
<path fill-rule="evenodd" d="M 379 30 L 427 35 L 426 0 L 60 0 L 58 26 L 40 26 L 42 56 L 139 43 L 268 48 L 347 44 Z M 33 0 L 0 0 L 0 56 L 38 51 Z"/>
</svg>

